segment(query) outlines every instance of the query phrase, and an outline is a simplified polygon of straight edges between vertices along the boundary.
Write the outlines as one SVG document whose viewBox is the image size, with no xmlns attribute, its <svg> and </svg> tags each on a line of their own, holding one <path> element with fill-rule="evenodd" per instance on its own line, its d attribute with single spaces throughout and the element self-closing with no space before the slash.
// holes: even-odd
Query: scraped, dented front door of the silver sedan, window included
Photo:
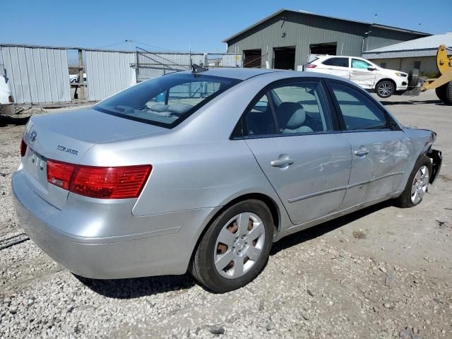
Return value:
<svg viewBox="0 0 452 339">
<path fill-rule="evenodd" d="M 367 93 L 328 81 L 344 135 L 352 146 L 352 170 L 342 208 L 396 192 L 408 168 L 405 133 Z"/>
</svg>

